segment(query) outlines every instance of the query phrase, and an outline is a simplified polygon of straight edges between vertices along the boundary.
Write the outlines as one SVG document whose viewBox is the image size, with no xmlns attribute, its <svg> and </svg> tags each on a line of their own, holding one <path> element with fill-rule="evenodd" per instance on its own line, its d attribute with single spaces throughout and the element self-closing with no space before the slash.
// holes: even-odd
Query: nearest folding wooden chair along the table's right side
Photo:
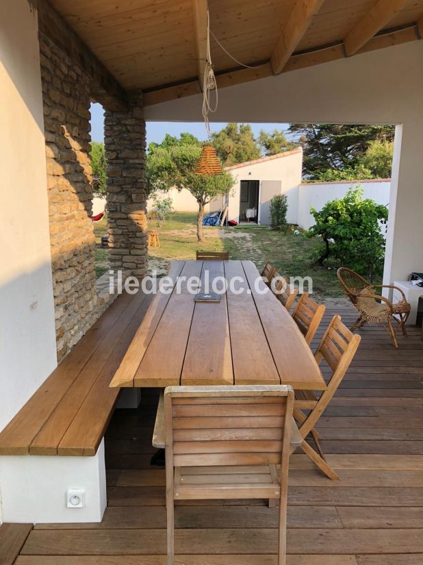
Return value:
<svg viewBox="0 0 423 565">
<path fill-rule="evenodd" d="M 318 364 L 320 364 L 322 360 L 325 360 L 332 370 L 332 376 L 327 388 L 322 392 L 319 399 L 316 398 L 314 392 L 311 390 L 305 390 L 303 394 L 300 394 L 301 391 L 296 391 L 294 418 L 298 422 L 300 434 L 303 438 L 301 449 L 303 449 L 304 453 L 316 463 L 329 479 L 339 479 L 339 477 L 326 463 L 320 447 L 320 436 L 314 428 L 326 409 L 326 406 L 331 402 L 339 384 L 341 384 L 357 351 L 357 347 L 359 347 L 360 340 L 361 337 L 359 335 L 352 334 L 342 323 L 341 316 L 333 316 L 314 355 Z M 310 410 L 311 412 L 306 416 L 303 410 Z M 313 436 L 313 440 L 318 448 L 318 453 L 309 446 L 305 439 L 309 434 Z"/>
</svg>

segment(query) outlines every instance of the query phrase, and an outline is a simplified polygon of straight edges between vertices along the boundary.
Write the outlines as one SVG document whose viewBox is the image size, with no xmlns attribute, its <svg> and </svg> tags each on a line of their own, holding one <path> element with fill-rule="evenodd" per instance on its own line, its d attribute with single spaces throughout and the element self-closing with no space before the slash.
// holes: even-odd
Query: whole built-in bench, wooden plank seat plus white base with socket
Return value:
<svg viewBox="0 0 423 565">
<path fill-rule="evenodd" d="M 150 303 L 142 292 L 118 297 L 1 432 L 5 522 L 101 521 L 103 436 L 120 392 L 109 384 Z M 128 392 L 135 407 L 139 392 Z M 86 493 L 81 508 L 66 505 L 73 488 Z"/>
</svg>

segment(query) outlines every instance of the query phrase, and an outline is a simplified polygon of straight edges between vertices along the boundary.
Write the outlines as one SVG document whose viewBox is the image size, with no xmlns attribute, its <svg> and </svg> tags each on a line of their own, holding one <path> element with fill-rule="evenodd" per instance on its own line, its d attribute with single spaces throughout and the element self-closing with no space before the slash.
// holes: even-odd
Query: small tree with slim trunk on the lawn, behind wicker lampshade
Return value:
<svg viewBox="0 0 423 565">
<path fill-rule="evenodd" d="M 232 175 L 196 175 L 194 168 L 201 154 L 201 142 L 190 134 L 180 138 L 166 136 L 161 144 L 150 143 L 146 176 L 149 193 L 170 188 L 191 192 L 198 203 L 197 240 L 204 241 L 204 208 L 219 194 L 228 194 L 234 184 Z"/>
</svg>

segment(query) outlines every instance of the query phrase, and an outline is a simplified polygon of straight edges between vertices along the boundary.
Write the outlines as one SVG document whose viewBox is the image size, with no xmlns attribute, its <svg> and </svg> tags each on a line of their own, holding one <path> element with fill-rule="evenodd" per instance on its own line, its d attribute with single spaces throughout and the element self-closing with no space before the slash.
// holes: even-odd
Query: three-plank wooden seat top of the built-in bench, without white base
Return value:
<svg viewBox="0 0 423 565">
<path fill-rule="evenodd" d="M 0 455 L 97 453 L 120 389 L 109 388 L 149 305 L 118 297 L 0 434 Z"/>
</svg>

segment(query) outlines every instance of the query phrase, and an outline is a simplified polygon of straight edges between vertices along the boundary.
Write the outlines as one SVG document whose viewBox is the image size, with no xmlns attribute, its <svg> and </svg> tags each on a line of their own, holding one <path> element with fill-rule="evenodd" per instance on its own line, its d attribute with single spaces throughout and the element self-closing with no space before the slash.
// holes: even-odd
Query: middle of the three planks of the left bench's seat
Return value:
<svg viewBox="0 0 423 565">
<path fill-rule="evenodd" d="M 108 371 L 106 364 L 110 361 L 116 364 L 116 357 L 113 357 L 114 348 L 133 320 L 140 305 L 148 298 L 141 291 L 134 295 L 109 334 L 101 342 L 96 354 L 84 366 L 62 400 L 57 404 L 53 414 L 34 438 L 29 447 L 30 455 L 57 455 L 57 447 L 73 418 L 77 415 L 84 399 L 92 386 L 96 386 L 96 381 L 101 377 L 103 371 Z"/>
</svg>

